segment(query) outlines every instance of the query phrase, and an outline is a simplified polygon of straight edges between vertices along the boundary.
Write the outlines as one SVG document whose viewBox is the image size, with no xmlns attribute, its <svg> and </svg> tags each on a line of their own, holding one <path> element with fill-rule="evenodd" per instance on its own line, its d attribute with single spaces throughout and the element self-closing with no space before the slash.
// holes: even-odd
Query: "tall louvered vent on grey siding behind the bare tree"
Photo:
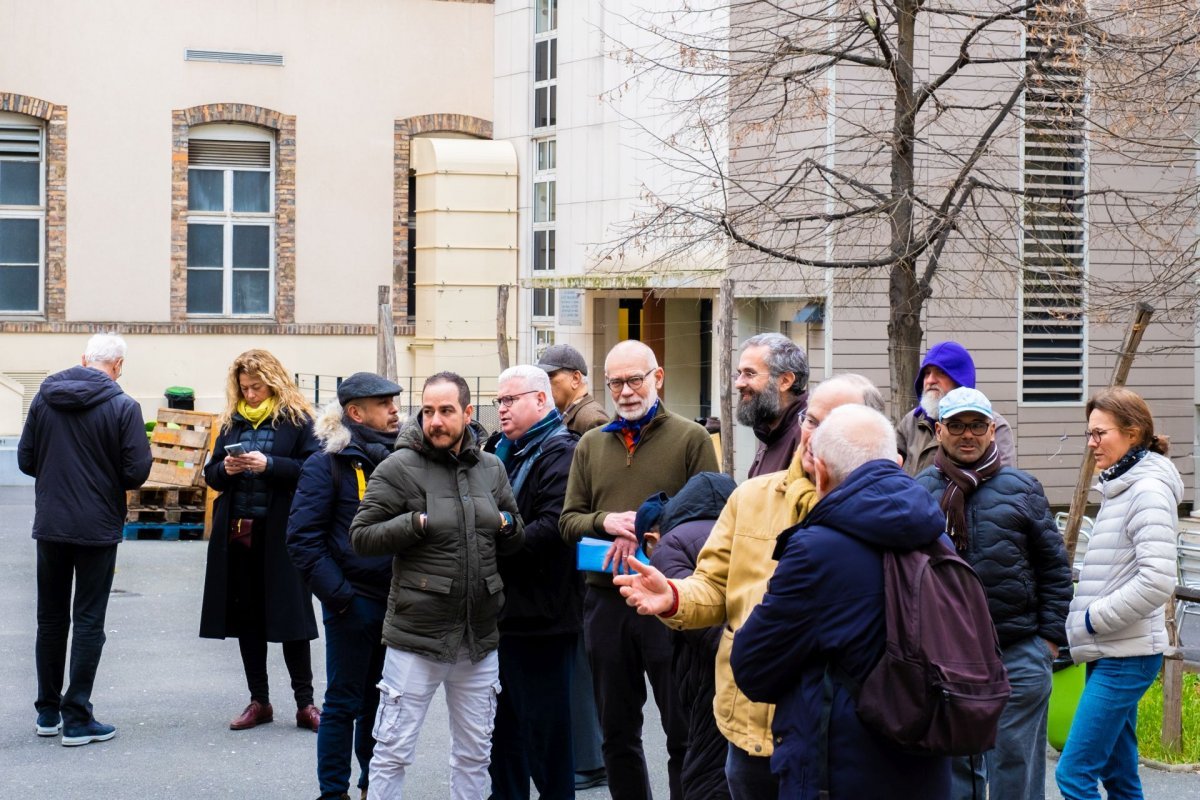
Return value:
<svg viewBox="0 0 1200 800">
<path fill-rule="evenodd" d="M 1085 76 L 1062 13 L 1038 11 L 1026 41 L 1021 399 L 1027 403 L 1078 403 L 1086 390 Z"/>
</svg>

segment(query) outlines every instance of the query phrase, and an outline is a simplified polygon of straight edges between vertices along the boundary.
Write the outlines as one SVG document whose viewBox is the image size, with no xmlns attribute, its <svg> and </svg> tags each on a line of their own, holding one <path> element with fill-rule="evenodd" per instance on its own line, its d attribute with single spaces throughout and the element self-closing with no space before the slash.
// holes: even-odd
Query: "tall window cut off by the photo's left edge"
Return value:
<svg viewBox="0 0 1200 800">
<path fill-rule="evenodd" d="M 42 311 L 46 137 L 0 114 L 0 313 Z"/>
</svg>

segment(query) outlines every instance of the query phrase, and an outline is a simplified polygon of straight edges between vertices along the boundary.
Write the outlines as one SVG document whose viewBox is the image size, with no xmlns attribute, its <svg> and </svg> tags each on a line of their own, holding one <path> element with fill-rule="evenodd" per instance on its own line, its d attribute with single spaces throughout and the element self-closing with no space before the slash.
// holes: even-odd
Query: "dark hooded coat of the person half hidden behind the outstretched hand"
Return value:
<svg viewBox="0 0 1200 800">
<path fill-rule="evenodd" d="M 662 539 L 650 557 L 668 578 L 686 578 L 696 569 L 696 557 L 736 485 L 720 473 L 701 473 L 688 481 L 667 503 L 659 521 Z M 679 782 L 684 800 L 720 800 L 730 796 L 725 780 L 728 742 L 713 717 L 716 648 L 721 626 L 672 633 L 671 680 L 688 720 L 688 752 Z"/>
</svg>

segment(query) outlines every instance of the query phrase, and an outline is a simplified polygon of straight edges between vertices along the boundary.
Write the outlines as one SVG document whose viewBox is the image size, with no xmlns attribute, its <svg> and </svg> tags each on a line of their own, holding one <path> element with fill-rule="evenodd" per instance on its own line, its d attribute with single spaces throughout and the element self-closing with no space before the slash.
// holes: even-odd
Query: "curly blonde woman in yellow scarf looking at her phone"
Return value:
<svg viewBox="0 0 1200 800">
<path fill-rule="evenodd" d="M 250 705 L 229 723 L 244 730 L 271 722 L 266 643 L 283 643 L 296 700 L 296 726 L 317 730 L 312 599 L 288 558 L 284 534 L 300 465 L 317 451 L 312 408 L 266 350 L 247 350 L 229 367 L 227 404 L 204 480 L 221 492 L 204 573 L 200 636 L 236 637 Z"/>
</svg>

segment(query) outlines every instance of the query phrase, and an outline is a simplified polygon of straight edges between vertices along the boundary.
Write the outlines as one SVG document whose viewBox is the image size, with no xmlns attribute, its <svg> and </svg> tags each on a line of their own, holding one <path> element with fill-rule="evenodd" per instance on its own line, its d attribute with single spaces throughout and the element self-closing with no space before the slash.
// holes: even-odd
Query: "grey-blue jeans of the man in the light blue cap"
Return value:
<svg viewBox="0 0 1200 800">
<path fill-rule="evenodd" d="M 1002 655 L 1013 694 L 1000 717 L 996 746 L 982 756 L 954 759 L 954 800 L 1045 798 L 1050 648 L 1040 637 L 1031 636 L 1009 644 Z"/>
</svg>

